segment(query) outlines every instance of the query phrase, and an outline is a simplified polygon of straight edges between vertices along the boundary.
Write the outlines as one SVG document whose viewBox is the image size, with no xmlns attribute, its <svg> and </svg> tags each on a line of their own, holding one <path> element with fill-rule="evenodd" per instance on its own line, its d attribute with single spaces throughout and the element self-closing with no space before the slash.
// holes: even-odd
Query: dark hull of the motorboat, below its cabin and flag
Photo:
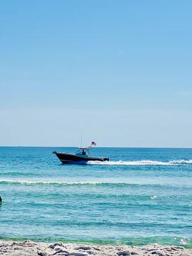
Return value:
<svg viewBox="0 0 192 256">
<path fill-rule="evenodd" d="M 87 155 L 76 155 L 76 154 L 68 154 L 68 153 L 58 153 L 56 151 L 53 152 L 56 154 L 58 159 L 60 159 L 63 164 L 86 164 L 88 161 L 109 161 L 107 157 L 90 157 Z"/>
</svg>

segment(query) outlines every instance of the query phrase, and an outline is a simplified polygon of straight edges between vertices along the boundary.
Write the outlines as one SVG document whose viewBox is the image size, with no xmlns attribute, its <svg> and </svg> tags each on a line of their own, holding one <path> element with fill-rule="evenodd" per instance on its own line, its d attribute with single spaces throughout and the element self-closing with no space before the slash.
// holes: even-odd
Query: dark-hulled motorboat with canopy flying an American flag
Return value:
<svg viewBox="0 0 192 256">
<path fill-rule="evenodd" d="M 56 154 L 58 159 L 60 159 L 61 163 L 63 164 L 86 164 L 88 161 L 109 161 L 108 157 L 92 157 L 90 155 L 92 145 L 96 145 L 96 143 L 92 142 L 90 147 L 79 147 L 74 154 L 56 151 L 52 152 L 52 154 Z"/>
</svg>

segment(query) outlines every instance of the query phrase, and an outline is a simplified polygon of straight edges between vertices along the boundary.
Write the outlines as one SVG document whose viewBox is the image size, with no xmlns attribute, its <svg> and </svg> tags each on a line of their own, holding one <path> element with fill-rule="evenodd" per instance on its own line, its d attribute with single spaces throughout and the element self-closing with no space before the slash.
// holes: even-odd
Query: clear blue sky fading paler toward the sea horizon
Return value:
<svg viewBox="0 0 192 256">
<path fill-rule="evenodd" d="M 191 147 L 192 1 L 0 6 L 0 146 Z"/>
</svg>

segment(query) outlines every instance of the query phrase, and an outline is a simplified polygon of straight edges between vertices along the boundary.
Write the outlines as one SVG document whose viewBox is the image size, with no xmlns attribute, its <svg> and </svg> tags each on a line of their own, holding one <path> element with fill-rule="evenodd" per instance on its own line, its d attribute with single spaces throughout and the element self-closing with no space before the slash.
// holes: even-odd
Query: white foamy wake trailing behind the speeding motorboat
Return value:
<svg viewBox="0 0 192 256">
<path fill-rule="evenodd" d="M 154 161 L 154 160 L 141 160 L 141 161 L 88 161 L 88 164 L 104 164 L 104 165 L 186 165 L 192 164 L 192 160 L 172 160 L 168 162 Z"/>
</svg>

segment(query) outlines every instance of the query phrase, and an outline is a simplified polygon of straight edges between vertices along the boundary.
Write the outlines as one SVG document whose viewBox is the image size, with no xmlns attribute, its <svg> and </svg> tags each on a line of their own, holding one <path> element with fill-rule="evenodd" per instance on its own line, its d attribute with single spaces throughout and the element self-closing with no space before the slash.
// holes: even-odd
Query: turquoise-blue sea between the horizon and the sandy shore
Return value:
<svg viewBox="0 0 192 256">
<path fill-rule="evenodd" d="M 192 247 L 192 149 L 0 147 L 0 239 Z"/>
</svg>

